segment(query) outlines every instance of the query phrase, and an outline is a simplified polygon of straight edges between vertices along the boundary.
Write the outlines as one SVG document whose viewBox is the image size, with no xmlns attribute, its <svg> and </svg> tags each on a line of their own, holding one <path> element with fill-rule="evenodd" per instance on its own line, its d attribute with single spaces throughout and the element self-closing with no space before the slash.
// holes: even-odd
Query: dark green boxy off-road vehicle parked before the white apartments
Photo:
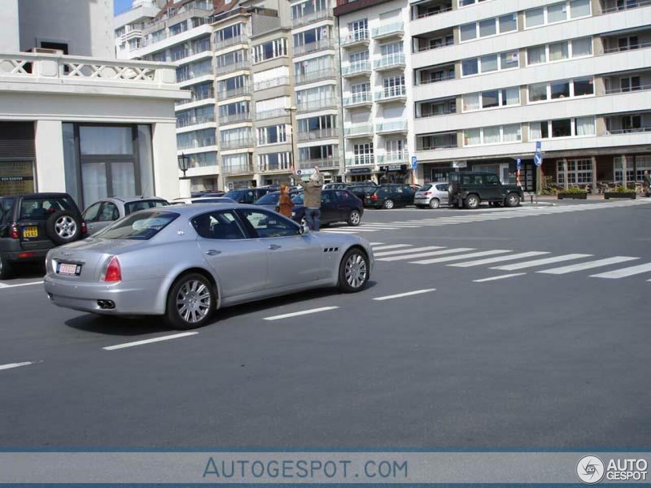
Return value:
<svg viewBox="0 0 651 488">
<path fill-rule="evenodd" d="M 481 202 L 517 207 L 523 198 L 518 185 L 503 185 L 497 174 L 481 171 L 450 173 L 450 205 L 475 209 Z"/>
</svg>

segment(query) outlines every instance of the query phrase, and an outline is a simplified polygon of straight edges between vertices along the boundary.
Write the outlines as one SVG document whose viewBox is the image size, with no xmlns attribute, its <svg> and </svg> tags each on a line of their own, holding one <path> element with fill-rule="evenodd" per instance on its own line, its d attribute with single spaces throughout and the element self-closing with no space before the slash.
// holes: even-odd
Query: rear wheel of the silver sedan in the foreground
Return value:
<svg viewBox="0 0 651 488">
<path fill-rule="evenodd" d="M 205 290 L 199 286 L 200 284 L 205 287 Z M 208 297 L 204 297 L 204 291 L 207 291 Z M 179 303 L 182 300 L 188 301 L 186 305 L 190 305 L 189 308 L 186 307 L 184 310 L 184 307 L 180 306 L 184 305 Z M 182 331 L 198 329 L 210 321 L 214 311 L 215 291 L 204 275 L 187 273 L 176 278 L 167 294 L 165 307 L 165 322 L 169 327 Z"/>
</svg>

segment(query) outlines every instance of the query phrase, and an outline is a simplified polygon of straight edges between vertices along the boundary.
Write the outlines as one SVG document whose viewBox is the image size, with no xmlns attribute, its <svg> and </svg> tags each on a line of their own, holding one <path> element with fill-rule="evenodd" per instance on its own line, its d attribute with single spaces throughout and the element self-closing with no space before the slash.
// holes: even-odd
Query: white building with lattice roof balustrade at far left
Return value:
<svg viewBox="0 0 651 488">
<path fill-rule="evenodd" d="M 178 197 L 170 64 L 115 59 L 113 1 L 3 0 L 0 195 Z"/>
</svg>

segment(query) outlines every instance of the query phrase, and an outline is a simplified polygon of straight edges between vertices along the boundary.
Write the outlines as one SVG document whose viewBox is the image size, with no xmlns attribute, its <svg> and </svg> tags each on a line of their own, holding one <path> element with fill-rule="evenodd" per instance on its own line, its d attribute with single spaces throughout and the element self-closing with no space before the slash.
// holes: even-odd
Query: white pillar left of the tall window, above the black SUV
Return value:
<svg viewBox="0 0 651 488">
<path fill-rule="evenodd" d="M 61 120 L 37 120 L 34 145 L 36 191 L 66 191 Z"/>
</svg>

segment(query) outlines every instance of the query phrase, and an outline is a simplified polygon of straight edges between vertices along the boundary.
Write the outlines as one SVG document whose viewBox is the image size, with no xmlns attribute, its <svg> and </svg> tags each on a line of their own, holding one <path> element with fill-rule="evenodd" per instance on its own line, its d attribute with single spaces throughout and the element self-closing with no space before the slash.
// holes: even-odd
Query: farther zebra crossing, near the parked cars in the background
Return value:
<svg viewBox="0 0 651 488">
<path fill-rule="evenodd" d="M 393 221 L 389 223 L 364 222 L 357 227 L 333 227 L 326 228 L 321 232 L 331 234 L 360 234 L 365 235 L 371 232 L 393 231 L 402 229 L 414 229 L 424 227 L 436 227 L 443 225 L 466 224 L 473 222 L 497 221 L 503 219 L 517 219 L 523 217 L 536 217 L 538 215 L 553 215 L 555 213 L 568 213 L 587 210 L 603 210 L 608 208 L 622 208 L 639 206 L 651 203 L 651 199 L 646 200 L 623 200 L 621 202 L 608 202 L 596 204 L 577 204 L 560 207 L 521 207 L 512 210 L 499 211 L 479 211 L 478 213 L 466 213 L 464 215 L 445 215 L 442 217 L 425 217 L 421 219 Z M 432 215 L 436 211 L 423 211 Z"/>
</svg>

